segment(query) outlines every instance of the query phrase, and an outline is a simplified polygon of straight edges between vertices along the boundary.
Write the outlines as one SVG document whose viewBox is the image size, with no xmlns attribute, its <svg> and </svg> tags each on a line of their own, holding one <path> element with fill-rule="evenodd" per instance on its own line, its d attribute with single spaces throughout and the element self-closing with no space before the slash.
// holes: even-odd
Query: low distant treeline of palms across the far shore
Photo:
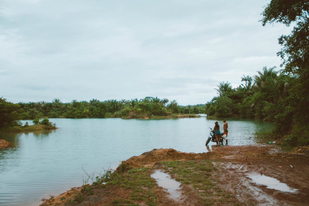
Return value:
<svg viewBox="0 0 309 206">
<path fill-rule="evenodd" d="M 70 103 L 62 103 L 60 99 L 52 102 L 19 102 L 23 110 L 23 119 L 35 118 L 109 118 L 125 117 L 130 112 L 146 116 L 169 116 L 171 114 L 197 114 L 205 112 L 205 104 L 180 106 L 176 100 L 158 97 L 146 97 L 144 99 L 131 99 L 120 101 L 116 99 L 99 101 L 91 99 L 87 101 L 72 100 Z"/>
</svg>

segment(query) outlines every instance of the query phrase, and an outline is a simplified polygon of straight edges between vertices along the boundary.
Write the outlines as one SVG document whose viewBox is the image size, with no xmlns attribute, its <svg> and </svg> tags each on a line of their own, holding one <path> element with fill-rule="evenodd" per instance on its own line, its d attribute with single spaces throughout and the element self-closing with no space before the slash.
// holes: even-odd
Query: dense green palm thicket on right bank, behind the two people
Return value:
<svg viewBox="0 0 309 206">
<path fill-rule="evenodd" d="M 274 69 L 264 67 L 253 77 L 243 75 L 244 84 L 237 88 L 232 88 L 229 82 L 221 82 L 216 89 L 218 96 L 206 103 L 208 116 L 276 120 L 286 109 L 290 89 L 297 78 Z"/>
</svg>

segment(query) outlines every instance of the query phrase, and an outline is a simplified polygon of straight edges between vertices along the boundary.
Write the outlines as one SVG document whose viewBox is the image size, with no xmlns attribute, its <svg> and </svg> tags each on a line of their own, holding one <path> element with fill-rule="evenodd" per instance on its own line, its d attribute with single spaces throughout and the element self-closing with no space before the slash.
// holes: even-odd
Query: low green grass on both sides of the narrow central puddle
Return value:
<svg viewBox="0 0 309 206">
<path fill-rule="evenodd" d="M 219 162 L 219 161 L 218 161 Z M 161 168 L 168 171 L 173 179 L 183 184 L 190 185 L 196 194 L 201 197 L 205 205 L 236 204 L 237 199 L 230 192 L 226 192 L 218 187 L 218 166 L 214 166 L 208 160 L 192 161 L 170 161 L 162 162 Z M 70 203 L 76 203 L 82 196 L 91 195 L 94 189 L 103 187 L 112 190 L 126 190 L 128 196 L 113 199 L 112 205 L 158 205 L 159 199 L 155 179 L 150 177 L 153 168 L 128 168 L 124 170 L 104 170 L 104 174 L 96 177 L 92 185 L 84 185 L 80 194 L 75 195 Z M 105 184 L 102 184 L 105 183 Z M 191 190 L 190 190 L 191 191 Z M 80 200 L 82 201 L 82 200 Z"/>
</svg>

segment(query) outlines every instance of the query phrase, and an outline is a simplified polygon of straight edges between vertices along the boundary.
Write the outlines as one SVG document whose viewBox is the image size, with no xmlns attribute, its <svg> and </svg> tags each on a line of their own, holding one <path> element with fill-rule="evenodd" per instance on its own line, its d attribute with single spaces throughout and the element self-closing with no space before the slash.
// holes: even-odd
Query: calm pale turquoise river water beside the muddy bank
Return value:
<svg viewBox="0 0 309 206">
<path fill-rule="evenodd" d="M 154 148 L 202 153 L 209 128 L 222 120 L 50 119 L 51 132 L 0 133 L 11 145 L 0 149 L 0 205 L 39 205 L 49 195 L 79 187 L 87 175 L 116 169 L 121 161 Z M 32 123 L 31 120 L 28 121 Z M 261 120 L 227 119 L 230 145 L 266 143 L 254 133 L 272 128 Z M 23 121 L 25 123 L 25 121 Z M 91 183 L 91 180 L 89 181 Z"/>
</svg>

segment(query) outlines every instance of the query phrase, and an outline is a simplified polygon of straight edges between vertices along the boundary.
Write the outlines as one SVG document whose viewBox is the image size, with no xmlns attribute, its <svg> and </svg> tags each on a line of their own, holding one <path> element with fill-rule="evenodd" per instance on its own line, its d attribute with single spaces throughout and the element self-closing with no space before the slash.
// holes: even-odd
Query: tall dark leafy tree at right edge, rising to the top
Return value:
<svg viewBox="0 0 309 206">
<path fill-rule="evenodd" d="M 278 114 L 276 120 L 287 119 L 293 113 L 292 135 L 297 140 L 298 145 L 309 144 L 309 1 L 308 0 L 272 0 L 267 4 L 262 13 L 262 25 L 274 22 L 283 23 L 286 26 L 293 25 L 290 35 L 282 35 L 278 41 L 281 50 L 277 53 L 282 59 L 281 66 L 285 73 L 293 74 L 296 79 L 293 88 L 290 90 L 289 112 Z M 286 102 L 286 101 L 285 101 Z M 287 116 L 285 116 L 287 114 Z M 281 128 L 286 127 L 286 123 L 280 121 L 275 124 Z M 280 128 L 277 128 L 277 131 Z"/>
</svg>

